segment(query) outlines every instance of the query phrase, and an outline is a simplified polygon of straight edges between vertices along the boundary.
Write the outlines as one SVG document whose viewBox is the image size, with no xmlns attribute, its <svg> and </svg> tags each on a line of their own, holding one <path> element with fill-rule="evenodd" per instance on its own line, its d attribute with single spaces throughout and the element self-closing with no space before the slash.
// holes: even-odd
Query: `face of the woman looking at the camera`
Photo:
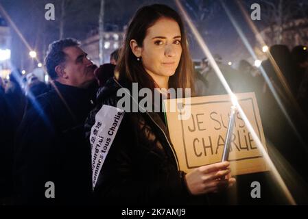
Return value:
<svg viewBox="0 0 308 219">
<path fill-rule="evenodd" d="M 180 40 L 180 27 L 171 18 L 160 18 L 147 29 L 141 60 L 154 79 L 174 75 L 182 54 Z"/>
</svg>

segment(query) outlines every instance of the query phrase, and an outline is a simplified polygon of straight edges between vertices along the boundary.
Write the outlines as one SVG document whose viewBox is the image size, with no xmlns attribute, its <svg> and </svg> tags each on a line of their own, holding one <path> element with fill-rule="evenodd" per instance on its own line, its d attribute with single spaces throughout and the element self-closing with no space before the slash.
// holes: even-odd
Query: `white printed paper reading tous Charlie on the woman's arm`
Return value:
<svg viewBox="0 0 308 219">
<path fill-rule="evenodd" d="M 123 110 L 110 105 L 103 105 L 95 115 L 90 135 L 93 190 L 123 116 Z"/>
</svg>

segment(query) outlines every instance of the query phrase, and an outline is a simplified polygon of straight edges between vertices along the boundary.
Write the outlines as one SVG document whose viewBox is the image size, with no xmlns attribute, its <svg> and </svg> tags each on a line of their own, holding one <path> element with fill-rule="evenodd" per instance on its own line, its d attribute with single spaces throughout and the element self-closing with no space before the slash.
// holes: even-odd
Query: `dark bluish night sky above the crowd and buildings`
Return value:
<svg viewBox="0 0 308 219">
<path fill-rule="evenodd" d="M 98 26 L 100 1 L 73 0 L 69 2 L 67 16 L 65 18 L 64 37 L 83 40 L 91 29 L 95 29 Z M 181 2 L 187 12 L 189 12 L 191 18 L 193 18 L 193 22 L 200 30 L 211 52 L 213 54 L 220 54 L 223 62 L 227 63 L 228 61 L 232 61 L 234 63 L 242 58 L 250 57 L 226 16 L 226 13 L 222 9 L 220 1 L 190 0 Z M 246 25 L 237 5 L 233 0 L 225 2 L 235 15 L 244 33 L 248 36 L 250 43 L 254 46 L 254 34 L 252 34 L 252 31 Z M 25 36 L 30 46 L 38 51 L 38 57 L 43 61 L 43 51 L 46 51 L 47 45 L 50 42 L 58 40 L 59 37 L 60 0 L 0 0 L 0 3 L 10 15 L 12 21 L 16 23 L 16 26 L 20 29 L 23 36 Z M 45 20 L 46 3 L 54 3 L 56 10 L 55 21 Z M 170 0 L 105 0 L 105 30 L 122 30 L 123 26 L 128 24 L 130 18 L 139 7 L 151 3 L 165 3 L 177 10 L 174 1 Z M 256 25 L 259 25 L 259 21 L 256 21 Z M 200 60 L 204 55 L 188 28 L 187 31 L 189 33 L 191 56 L 194 60 Z M 23 42 L 12 31 L 12 63 L 15 66 L 19 66 L 23 62 L 25 65 L 30 59 L 28 53 L 29 51 L 24 47 Z"/>
</svg>

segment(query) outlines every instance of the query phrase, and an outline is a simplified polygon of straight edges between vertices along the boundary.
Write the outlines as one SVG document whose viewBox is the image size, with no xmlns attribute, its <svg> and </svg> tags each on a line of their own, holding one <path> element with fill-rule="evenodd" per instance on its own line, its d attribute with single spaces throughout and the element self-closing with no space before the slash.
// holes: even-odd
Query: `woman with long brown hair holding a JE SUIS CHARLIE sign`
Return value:
<svg viewBox="0 0 308 219">
<path fill-rule="evenodd" d="M 138 83 L 139 90 L 153 92 L 154 88 L 192 87 L 185 28 L 175 10 L 155 4 L 137 11 L 115 73 L 116 78 L 100 88 L 97 107 L 86 122 L 97 201 L 185 204 L 199 194 L 233 185 L 228 162 L 200 166 L 189 174 L 178 169 L 162 112 L 110 113 L 119 107 L 119 90 L 133 92 L 133 83 Z M 136 102 L 130 95 L 129 103 Z"/>
</svg>

